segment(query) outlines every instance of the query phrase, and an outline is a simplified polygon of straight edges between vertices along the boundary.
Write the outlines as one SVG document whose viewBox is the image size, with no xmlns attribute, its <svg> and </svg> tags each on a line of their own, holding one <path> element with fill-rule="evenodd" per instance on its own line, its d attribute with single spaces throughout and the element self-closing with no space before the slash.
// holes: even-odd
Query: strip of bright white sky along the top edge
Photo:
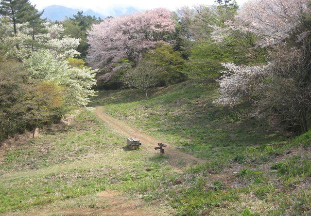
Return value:
<svg viewBox="0 0 311 216">
<path fill-rule="evenodd" d="M 242 5 L 247 0 L 237 0 Z M 113 7 L 129 7 L 145 10 L 164 7 L 175 10 L 181 6 L 192 6 L 194 4 L 213 4 L 214 0 L 30 0 L 41 10 L 50 5 L 63 5 L 74 9 L 92 9 L 95 12 L 103 13 Z"/>
</svg>

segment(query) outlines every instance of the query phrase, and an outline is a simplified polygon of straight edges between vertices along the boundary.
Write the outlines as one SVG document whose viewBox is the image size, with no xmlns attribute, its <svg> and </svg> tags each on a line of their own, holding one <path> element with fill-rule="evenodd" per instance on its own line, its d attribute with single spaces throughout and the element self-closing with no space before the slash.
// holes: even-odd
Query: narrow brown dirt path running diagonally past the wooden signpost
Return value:
<svg viewBox="0 0 311 216">
<path fill-rule="evenodd" d="M 130 125 L 113 118 L 110 115 L 107 115 L 104 112 L 103 107 L 96 107 L 96 115 L 102 119 L 105 123 L 111 125 L 118 133 L 125 135 L 126 137 L 137 138 L 142 143 L 142 148 L 147 149 L 148 151 L 152 150 L 155 154 L 159 154 L 158 151 L 154 150 L 154 147 L 157 146 L 157 143 L 162 142 L 166 144 L 165 155 L 168 157 L 168 163 L 173 167 L 174 170 L 181 172 L 183 168 L 186 168 L 190 165 L 195 165 L 198 163 L 204 163 L 205 160 L 197 158 L 191 154 L 187 154 L 179 150 L 178 148 L 165 143 L 159 139 L 156 139 L 152 136 L 149 136 L 138 129 L 131 127 Z"/>
</svg>

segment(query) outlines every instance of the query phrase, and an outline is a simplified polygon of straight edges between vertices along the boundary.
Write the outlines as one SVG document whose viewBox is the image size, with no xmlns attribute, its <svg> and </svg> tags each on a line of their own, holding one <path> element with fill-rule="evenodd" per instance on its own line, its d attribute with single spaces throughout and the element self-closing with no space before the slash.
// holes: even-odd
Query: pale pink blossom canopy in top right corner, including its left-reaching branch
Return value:
<svg viewBox="0 0 311 216">
<path fill-rule="evenodd" d="M 297 26 L 310 13 L 309 2 L 310 0 L 249 0 L 233 20 L 225 23 L 225 28 L 211 26 L 214 28 L 214 39 L 219 42 L 232 31 L 240 31 L 258 36 L 259 46 L 282 43 L 293 34 L 301 40 L 306 32 L 299 32 Z"/>
</svg>

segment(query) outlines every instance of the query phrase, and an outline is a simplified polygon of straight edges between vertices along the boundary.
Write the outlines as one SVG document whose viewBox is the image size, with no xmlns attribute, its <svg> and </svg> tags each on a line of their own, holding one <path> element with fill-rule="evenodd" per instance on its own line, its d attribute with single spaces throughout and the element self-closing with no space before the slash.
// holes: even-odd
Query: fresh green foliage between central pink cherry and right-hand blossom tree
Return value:
<svg viewBox="0 0 311 216">
<path fill-rule="evenodd" d="M 238 37 L 238 35 L 236 36 Z M 248 35 L 248 37 L 253 36 Z M 233 62 L 240 65 L 265 61 L 264 49 L 259 47 L 251 49 L 252 46 L 255 46 L 255 43 L 245 44 L 241 39 L 228 38 L 222 43 L 215 43 L 210 39 L 206 39 L 192 43 L 189 61 L 185 64 L 184 72 L 193 78 L 219 76 L 219 72 L 225 69 L 221 64 L 224 62 Z M 252 58 L 249 58 L 249 56 Z"/>
</svg>

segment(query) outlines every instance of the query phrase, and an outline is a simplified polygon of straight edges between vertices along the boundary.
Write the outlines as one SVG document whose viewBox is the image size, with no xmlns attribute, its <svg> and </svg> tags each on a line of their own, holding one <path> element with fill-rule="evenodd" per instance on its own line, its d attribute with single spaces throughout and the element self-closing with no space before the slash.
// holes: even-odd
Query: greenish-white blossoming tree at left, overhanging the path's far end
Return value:
<svg viewBox="0 0 311 216">
<path fill-rule="evenodd" d="M 97 70 L 70 67 L 65 60 L 55 59 L 48 50 L 33 52 L 25 64 L 31 72 L 30 78 L 52 81 L 64 87 L 65 103 L 69 107 L 86 106 L 94 96 L 92 87 L 96 84 Z"/>
</svg>

